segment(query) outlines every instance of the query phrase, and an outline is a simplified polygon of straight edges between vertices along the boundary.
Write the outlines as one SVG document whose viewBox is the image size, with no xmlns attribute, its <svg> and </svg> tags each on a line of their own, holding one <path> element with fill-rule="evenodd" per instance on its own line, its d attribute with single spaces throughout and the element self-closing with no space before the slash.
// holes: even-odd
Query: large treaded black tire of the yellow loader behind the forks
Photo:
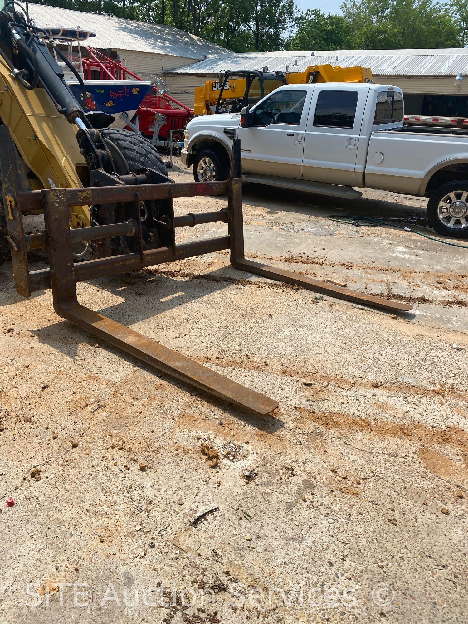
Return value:
<svg viewBox="0 0 468 624">
<path fill-rule="evenodd" d="M 137 173 L 140 167 L 148 167 L 167 175 L 167 169 L 157 149 L 141 135 L 114 128 L 100 130 L 100 134 L 114 159 L 117 169 L 115 173 Z"/>
</svg>

